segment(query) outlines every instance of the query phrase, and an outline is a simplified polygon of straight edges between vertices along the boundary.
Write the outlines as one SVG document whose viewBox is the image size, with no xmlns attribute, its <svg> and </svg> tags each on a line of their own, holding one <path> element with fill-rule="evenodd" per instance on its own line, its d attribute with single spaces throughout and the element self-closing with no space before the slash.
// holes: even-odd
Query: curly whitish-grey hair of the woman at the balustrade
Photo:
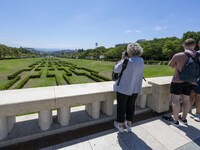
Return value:
<svg viewBox="0 0 200 150">
<path fill-rule="evenodd" d="M 143 54 L 143 48 L 139 43 L 130 43 L 127 46 L 127 53 L 132 53 L 133 56 L 141 56 Z"/>
</svg>

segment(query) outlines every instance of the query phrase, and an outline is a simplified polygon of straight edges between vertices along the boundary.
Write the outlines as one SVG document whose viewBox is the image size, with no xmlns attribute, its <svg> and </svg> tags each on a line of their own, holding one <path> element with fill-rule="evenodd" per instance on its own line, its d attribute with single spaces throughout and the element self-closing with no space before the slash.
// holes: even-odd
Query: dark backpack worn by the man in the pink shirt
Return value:
<svg viewBox="0 0 200 150">
<path fill-rule="evenodd" d="M 186 82 L 197 82 L 200 78 L 200 53 L 197 52 L 195 57 L 192 57 L 188 52 L 184 52 L 188 56 L 188 61 L 183 66 L 181 72 L 179 72 L 180 80 Z"/>
</svg>

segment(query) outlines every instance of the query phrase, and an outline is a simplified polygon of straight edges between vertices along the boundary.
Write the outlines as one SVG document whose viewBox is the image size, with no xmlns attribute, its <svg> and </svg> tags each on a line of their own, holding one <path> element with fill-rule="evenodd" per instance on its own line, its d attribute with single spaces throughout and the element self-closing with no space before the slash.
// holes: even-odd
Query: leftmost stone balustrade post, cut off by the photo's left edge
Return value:
<svg viewBox="0 0 200 150">
<path fill-rule="evenodd" d="M 8 135 L 8 120 L 7 117 L 0 117 L 0 140 L 4 139 Z"/>
</svg>

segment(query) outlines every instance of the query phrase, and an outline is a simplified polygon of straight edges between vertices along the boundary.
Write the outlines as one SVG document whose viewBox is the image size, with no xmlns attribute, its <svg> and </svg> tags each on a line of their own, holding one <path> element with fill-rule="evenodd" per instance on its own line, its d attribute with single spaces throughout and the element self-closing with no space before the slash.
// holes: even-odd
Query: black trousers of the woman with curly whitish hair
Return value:
<svg viewBox="0 0 200 150">
<path fill-rule="evenodd" d="M 138 93 L 128 96 L 117 92 L 117 122 L 133 121 L 137 96 Z"/>
</svg>

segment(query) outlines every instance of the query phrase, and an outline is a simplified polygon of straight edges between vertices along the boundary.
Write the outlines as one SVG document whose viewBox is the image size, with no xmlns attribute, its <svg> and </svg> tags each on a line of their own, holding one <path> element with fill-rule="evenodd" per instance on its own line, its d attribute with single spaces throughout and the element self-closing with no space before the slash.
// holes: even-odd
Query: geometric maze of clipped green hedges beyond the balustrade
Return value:
<svg viewBox="0 0 200 150">
<path fill-rule="evenodd" d="M 34 86 L 30 82 L 32 79 Z M 42 59 L 28 68 L 20 69 L 8 75 L 7 80 L 0 90 L 111 81 L 90 68 L 53 58 Z"/>
</svg>

